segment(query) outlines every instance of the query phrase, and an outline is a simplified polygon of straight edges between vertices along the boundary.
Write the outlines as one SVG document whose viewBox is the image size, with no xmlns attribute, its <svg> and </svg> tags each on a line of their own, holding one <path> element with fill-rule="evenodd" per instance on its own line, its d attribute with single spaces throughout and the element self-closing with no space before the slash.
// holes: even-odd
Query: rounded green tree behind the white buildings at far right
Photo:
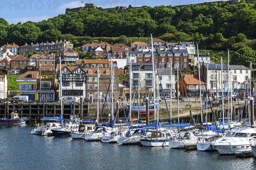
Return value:
<svg viewBox="0 0 256 170">
<path fill-rule="evenodd" d="M 253 68 L 256 68 L 256 51 L 252 50 L 252 48 L 241 48 L 234 52 L 231 57 L 231 63 L 233 65 L 244 65 L 249 67 L 250 62 L 252 62 Z"/>
</svg>

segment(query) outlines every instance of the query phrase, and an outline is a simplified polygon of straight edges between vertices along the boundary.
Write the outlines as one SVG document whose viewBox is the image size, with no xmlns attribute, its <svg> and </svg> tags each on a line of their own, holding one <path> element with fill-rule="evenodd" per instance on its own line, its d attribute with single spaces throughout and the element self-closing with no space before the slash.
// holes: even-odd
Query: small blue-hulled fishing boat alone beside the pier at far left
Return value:
<svg viewBox="0 0 256 170">
<path fill-rule="evenodd" d="M 17 111 L 11 113 L 11 119 L 6 117 L 0 118 L 0 125 L 20 125 L 25 124 L 29 117 L 19 117 Z"/>
</svg>

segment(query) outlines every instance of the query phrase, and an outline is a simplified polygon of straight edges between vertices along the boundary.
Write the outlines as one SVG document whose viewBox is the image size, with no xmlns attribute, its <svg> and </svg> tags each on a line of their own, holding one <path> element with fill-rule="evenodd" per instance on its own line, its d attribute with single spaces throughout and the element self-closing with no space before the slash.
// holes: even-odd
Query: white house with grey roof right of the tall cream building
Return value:
<svg viewBox="0 0 256 170">
<path fill-rule="evenodd" d="M 171 68 L 158 68 L 158 73 L 163 87 L 162 91 L 162 88 L 159 85 L 160 96 L 163 97 L 163 92 L 166 98 L 171 98 L 171 96 L 175 96 L 175 74 L 173 69 L 171 73 Z"/>
</svg>

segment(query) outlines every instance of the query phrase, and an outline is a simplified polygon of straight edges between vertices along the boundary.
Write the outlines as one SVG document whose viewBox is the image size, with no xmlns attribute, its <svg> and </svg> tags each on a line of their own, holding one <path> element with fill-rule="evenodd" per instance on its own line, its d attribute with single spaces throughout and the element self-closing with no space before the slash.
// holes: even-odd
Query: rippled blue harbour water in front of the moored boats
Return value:
<svg viewBox="0 0 256 170">
<path fill-rule="evenodd" d="M 256 158 L 169 147 L 123 146 L 31 135 L 29 125 L 0 125 L 0 169 L 256 169 Z"/>
</svg>

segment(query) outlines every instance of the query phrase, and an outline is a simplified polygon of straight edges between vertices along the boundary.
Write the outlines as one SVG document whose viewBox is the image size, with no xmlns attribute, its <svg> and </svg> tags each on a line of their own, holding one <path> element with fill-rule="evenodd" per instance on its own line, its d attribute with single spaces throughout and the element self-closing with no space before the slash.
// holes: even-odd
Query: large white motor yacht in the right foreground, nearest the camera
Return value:
<svg viewBox="0 0 256 170">
<path fill-rule="evenodd" d="M 212 144 L 220 154 L 242 153 L 252 150 L 250 141 L 255 137 L 256 128 L 235 127 Z"/>
</svg>

